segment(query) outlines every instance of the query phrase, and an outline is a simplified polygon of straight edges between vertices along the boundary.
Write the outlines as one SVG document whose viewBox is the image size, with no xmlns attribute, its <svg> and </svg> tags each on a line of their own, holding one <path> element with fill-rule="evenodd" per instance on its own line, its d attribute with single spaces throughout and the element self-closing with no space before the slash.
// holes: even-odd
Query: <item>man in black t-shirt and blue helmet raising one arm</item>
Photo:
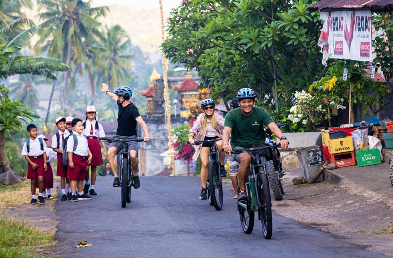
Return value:
<svg viewBox="0 0 393 258">
<path fill-rule="evenodd" d="M 102 84 L 101 91 L 111 97 L 118 104 L 119 113 L 118 113 L 118 129 L 116 131 L 116 135 L 113 137 L 122 138 L 127 137 L 130 141 L 127 142 L 129 151 L 130 151 L 130 159 L 131 166 L 133 168 L 133 186 L 134 188 L 140 187 L 140 181 L 138 177 L 138 165 L 139 160 L 137 157 L 138 154 L 138 142 L 135 141 L 138 135 L 136 133 L 136 122 L 142 127 L 145 137 L 144 141 L 150 141 L 149 132 L 147 130 L 147 125 L 143 121 L 142 117 L 139 115 L 138 109 L 135 107 L 133 103 L 130 102 L 130 98 L 132 96 L 132 90 L 130 87 L 122 86 L 115 90 L 115 92 L 110 92 L 108 90 L 108 85 L 105 83 Z M 121 143 L 112 142 L 109 145 L 108 156 L 109 156 L 109 165 L 111 165 L 112 172 L 115 175 L 115 180 L 113 181 L 113 186 L 120 186 L 119 175 L 117 173 L 117 162 L 115 159 L 116 154 L 121 151 Z"/>
</svg>

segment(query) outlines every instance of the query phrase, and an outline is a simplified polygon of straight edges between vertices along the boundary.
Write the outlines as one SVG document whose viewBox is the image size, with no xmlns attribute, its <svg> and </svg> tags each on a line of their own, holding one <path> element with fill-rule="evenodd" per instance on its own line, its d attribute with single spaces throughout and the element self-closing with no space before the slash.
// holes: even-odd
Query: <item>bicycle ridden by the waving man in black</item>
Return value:
<svg viewBox="0 0 393 258">
<path fill-rule="evenodd" d="M 126 137 L 125 137 L 126 138 Z M 121 204 L 122 208 L 126 207 L 126 202 L 131 202 L 131 187 L 133 186 L 133 169 L 131 166 L 130 152 L 128 151 L 127 141 L 129 139 L 111 139 L 111 138 L 98 138 L 99 140 L 107 141 L 108 143 L 120 142 L 122 143 L 122 150 L 116 154 L 116 160 L 118 164 L 118 175 L 120 181 L 121 191 Z M 132 141 L 132 140 L 131 140 Z M 134 140 L 137 142 L 144 142 L 143 139 Z"/>
</svg>

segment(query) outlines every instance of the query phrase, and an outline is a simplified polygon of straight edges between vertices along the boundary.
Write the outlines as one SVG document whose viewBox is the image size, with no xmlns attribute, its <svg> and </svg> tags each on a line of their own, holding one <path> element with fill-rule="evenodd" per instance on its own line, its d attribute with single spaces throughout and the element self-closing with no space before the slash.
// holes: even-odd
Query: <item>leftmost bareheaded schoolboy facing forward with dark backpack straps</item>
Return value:
<svg viewBox="0 0 393 258">
<path fill-rule="evenodd" d="M 38 180 L 38 190 L 39 196 L 38 200 L 40 204 L 44 204 L 45 200 L 42 196 L 42 191 L 44 189 L 44 173 L 47 170 L 46 164 L 46 151 L 47 147 L 43 143 L 42 139 L 37 138 L 38 130 L 36 125 L 30 124 L 27 126 L 27 133 L 30 136 L 23 144 L 22 155 L 25 156 L 27 162 L 27 179 L 30 179 L 31 188 L 31 202 L 30 205 L 37 204 L 36 198 L 36 181 Z"/>
</svg>

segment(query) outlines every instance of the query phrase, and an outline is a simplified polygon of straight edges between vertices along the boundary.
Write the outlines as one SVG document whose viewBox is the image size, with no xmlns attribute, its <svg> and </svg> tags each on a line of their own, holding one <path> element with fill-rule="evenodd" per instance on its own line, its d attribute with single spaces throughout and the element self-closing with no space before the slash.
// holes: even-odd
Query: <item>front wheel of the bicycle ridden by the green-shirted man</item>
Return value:
<svg viewBox="0 0 393 258">
<path fill-rule="evenodd" d="M 271 214 L 271 196 L 269 182 L 266 174 L 259 173 L 257 176 L 257 194 L 261 203 L 258 213 L 262 223 L 262 231 L 265 239 L 270 239 L 273 233 L 273 217 Z"/>
</svg>

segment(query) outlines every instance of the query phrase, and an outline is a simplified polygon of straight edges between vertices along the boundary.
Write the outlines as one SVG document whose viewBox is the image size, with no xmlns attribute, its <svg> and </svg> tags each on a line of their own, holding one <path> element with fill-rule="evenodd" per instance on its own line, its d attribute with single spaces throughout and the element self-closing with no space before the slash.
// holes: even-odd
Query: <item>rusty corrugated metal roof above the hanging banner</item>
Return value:
<svg viewBox="0 0 393 258">
<path fill-rule="evenodd" d="M 310 11 L 334 11 L 334 9 L 393 11 L 393 0 L 322 0 L 309 7 Z"/>
</svg>

